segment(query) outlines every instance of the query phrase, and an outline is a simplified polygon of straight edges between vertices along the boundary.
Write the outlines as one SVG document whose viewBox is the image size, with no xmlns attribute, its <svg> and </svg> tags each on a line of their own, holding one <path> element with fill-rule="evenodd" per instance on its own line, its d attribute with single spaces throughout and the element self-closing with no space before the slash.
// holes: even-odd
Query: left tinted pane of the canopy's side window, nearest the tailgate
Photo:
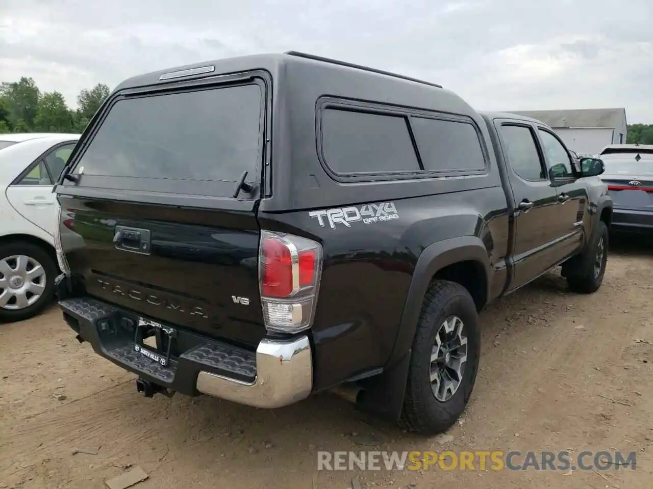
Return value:
<svg viewBox="0 0 653 489">
<path fill-rule="evenodd" d="M 420 170 L 405 117 L 327 109 L 322 148 L 336 173 Z"/>
</svg>

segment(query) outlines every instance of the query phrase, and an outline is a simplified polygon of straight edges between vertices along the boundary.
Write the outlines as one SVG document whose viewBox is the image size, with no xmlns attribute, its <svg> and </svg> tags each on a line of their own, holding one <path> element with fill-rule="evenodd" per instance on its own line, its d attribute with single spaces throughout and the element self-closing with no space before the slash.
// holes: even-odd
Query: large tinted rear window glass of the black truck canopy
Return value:
<svg viewBox="0 0 653 489">
<path fill-rule="evenodd" d="M 74 172 L 236 182 L 247 170 L 256 180 L 260 115 L 258 85 L 119 100 Z"/>
</svg>

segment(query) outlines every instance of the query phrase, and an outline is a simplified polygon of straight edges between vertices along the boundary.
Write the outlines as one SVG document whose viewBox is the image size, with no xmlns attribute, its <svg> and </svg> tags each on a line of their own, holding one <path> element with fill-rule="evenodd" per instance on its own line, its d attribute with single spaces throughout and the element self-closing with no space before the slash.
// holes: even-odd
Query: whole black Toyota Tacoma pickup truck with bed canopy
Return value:
<svg viewBox="0 0 653 489">
<path fill-rule="evenodd" d="M 146 396 L 350 387 L 423 434 L 465 408 L 479 312 L 603 280 L 601 160 L 433 83 L 289 52 L 131 78 L 56 186 L 57 293 Z"/>
</svg>

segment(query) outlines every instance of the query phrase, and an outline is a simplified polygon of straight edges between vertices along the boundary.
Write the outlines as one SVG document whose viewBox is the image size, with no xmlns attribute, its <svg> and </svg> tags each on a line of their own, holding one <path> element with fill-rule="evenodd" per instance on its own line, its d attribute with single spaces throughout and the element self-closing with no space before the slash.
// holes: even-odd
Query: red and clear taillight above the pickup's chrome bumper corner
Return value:
<svg viewBox="0 0 653 489">
<path fill-rule="evenodd" d="M 322 246 L 311 239 L 261 231 L 259 283 L 266 329 L 311 327 L 322 272 Z"/>
</svg>

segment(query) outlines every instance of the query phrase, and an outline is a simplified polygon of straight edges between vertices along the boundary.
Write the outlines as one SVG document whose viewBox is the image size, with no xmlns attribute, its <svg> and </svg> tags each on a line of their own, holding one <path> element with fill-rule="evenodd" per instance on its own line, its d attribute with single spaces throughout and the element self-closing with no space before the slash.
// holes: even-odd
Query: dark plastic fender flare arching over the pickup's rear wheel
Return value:
<svg viewBox="0 0 653 489">
<path fill-rule="evenodd" d="M 485 287 L 486 291 L 489 291 L 490 258 L 485 244 L 479 237 L 455 237 L 438 241 L 424 248 L 417 259 L 417 265 L 415 265 L 413 280 L 404 304 L 404 313 L 387 366 L 392 366 L 411 348 L 424 296 L 433 276 L 444 267 L 460 261 L 477 261 L 483 265 L 486 277 Z M 489 294 L 486 294 L 486 297 L 489 297 Z"/>
</svg>

